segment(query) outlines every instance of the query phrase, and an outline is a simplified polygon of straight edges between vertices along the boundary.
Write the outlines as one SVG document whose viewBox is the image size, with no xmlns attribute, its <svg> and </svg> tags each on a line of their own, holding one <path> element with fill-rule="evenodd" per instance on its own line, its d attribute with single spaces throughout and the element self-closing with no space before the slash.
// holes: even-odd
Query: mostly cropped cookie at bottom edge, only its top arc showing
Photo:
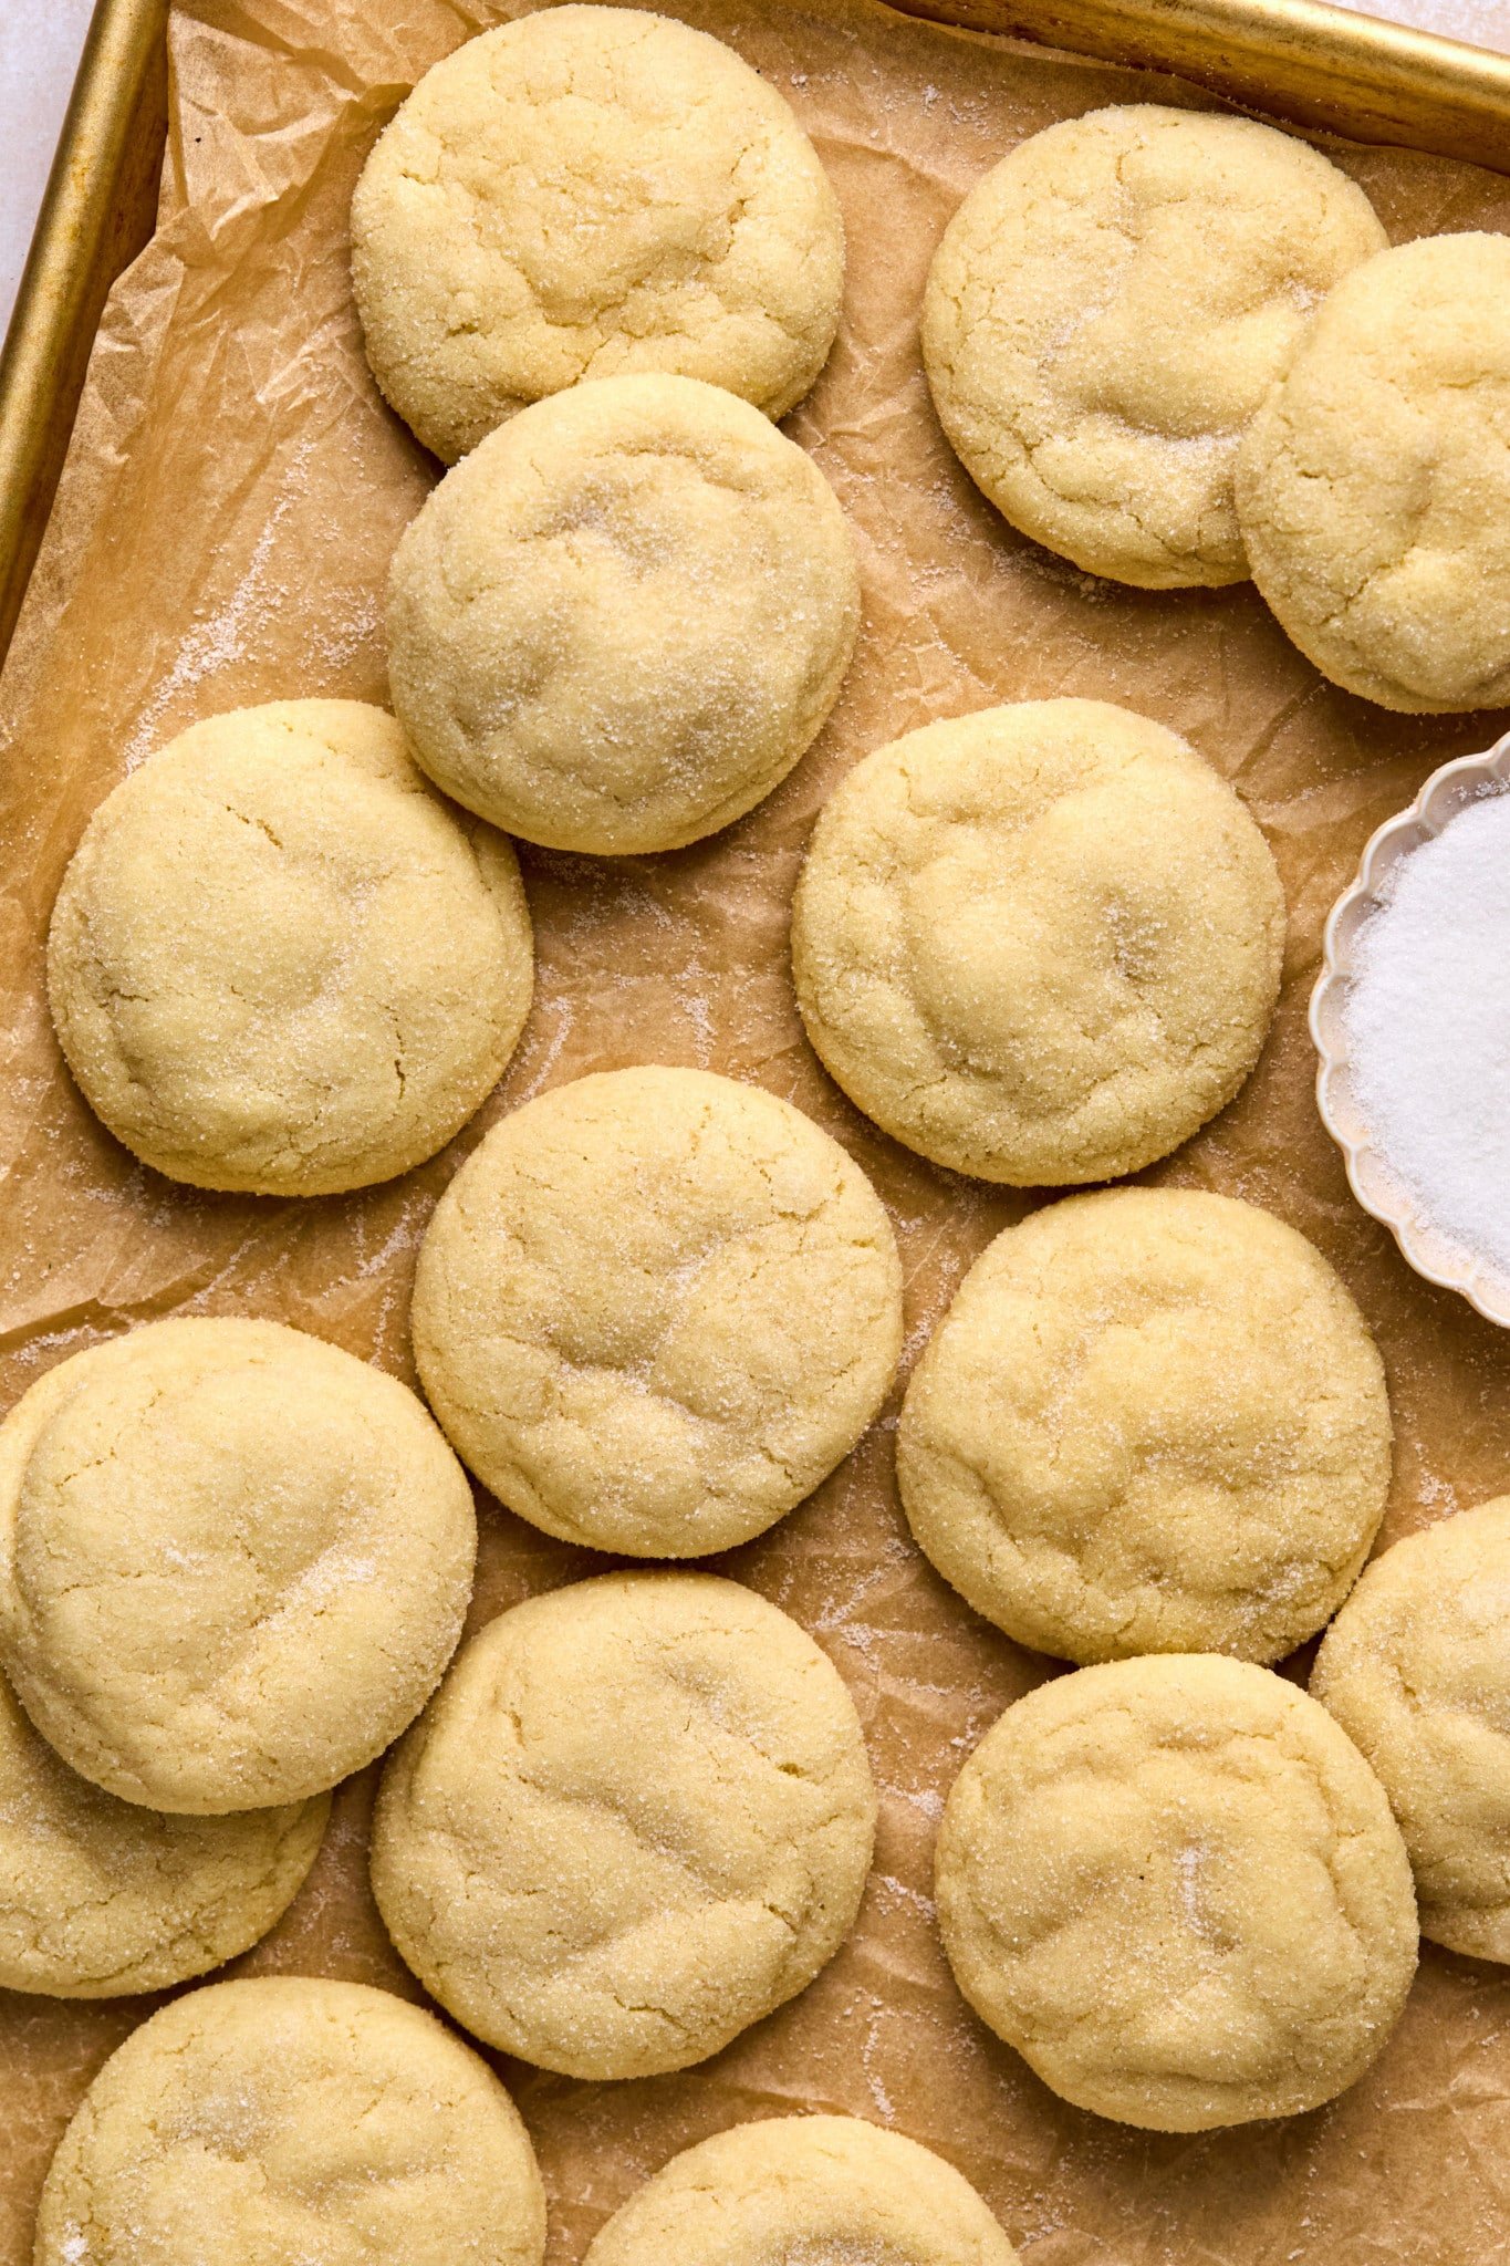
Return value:
<svg viewBox="0 0 1510 2266">
<path fill-rule="evenodd" d="M 960 2173 L 858 2116 L 770 2116 L 675 2155 L 582 2266 L 1019 2266 Z"/>
</svg>

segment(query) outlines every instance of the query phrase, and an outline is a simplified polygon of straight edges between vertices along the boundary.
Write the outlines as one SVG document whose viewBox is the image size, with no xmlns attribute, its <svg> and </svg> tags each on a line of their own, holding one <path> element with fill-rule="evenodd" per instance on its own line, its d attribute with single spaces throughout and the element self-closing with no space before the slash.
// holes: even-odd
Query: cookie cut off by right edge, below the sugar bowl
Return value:
<svg viewBox="0 0 1510 2266">
<path fill-rule="evenodd" d="M 1311 1695 L 1383 1781 L 1422 1935 L 1510 1960 L 1510 1496 L 1385 1550 L 1327 1629 Z"/>
</svg>

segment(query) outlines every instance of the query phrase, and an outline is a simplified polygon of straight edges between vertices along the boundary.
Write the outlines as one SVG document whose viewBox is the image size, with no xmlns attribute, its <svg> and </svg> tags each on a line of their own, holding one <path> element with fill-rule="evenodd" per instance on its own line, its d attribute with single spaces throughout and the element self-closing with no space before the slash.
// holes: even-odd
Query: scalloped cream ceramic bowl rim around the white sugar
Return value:
<svg viewBox="0 0 1510 2266">
<path fill-rule="evenodd" d="M 1510 1328 L 1510 1273 L 1469 1251 L 1453 1235 L 1422 1217 L 1376 1149 L 1358 1110 L 1347 1065 L 1342 1006 L 1354 972 L 1358 931 L 1379 909 L 1381 891 L 1401 857 L 1440 834 L 1465 804 L 1510 793 L 1510 734 L 1487 755 L 1460 755 L 1433 770 L 1408 811 L 1388 818 L 1372 836 L 1358 879 L 1331 909 L 1322 945 L 1322 972 L 1311 993 L 1311 1038 L 1320 1056 L 1315 1101 L 1322 1124 L 1342 1151 L 1352 1192 L 1365 1212 L 1381 1219 L 1408 1262 L 1426 1283 L 1458 1289 L 1490 1321 Z"/>
</svg>

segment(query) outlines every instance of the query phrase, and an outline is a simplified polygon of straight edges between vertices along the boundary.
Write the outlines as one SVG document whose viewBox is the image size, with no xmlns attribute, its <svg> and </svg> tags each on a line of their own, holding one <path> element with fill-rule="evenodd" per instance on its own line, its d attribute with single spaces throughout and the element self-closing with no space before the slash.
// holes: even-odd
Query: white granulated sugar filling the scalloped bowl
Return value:
<svg viewBox="0 0 1510 2266">
<path fill-rule="evenodd" d="M 1374 1151 L 1424 1219 L 1510 1271 L 1510 793 L 1395 866 L 1345 1029 Z"/>
</svg>

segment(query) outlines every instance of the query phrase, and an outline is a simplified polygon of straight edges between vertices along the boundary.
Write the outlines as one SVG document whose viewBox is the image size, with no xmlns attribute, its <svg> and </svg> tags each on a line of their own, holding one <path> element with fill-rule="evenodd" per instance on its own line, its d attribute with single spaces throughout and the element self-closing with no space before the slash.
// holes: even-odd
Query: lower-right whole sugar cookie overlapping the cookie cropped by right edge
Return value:
<svg viewBox="0 0 1510 2266">
<path fill-rule="evenodd" d="M 1417 1958 L 1379 1779 L 1315 1700 L 1216 1654 L 1010 1706 L 944 1808 L 937 1899 L 983 2021 L 1064 2101 L 1152 2132 L 1331 2101 Z"/>
</svg>

